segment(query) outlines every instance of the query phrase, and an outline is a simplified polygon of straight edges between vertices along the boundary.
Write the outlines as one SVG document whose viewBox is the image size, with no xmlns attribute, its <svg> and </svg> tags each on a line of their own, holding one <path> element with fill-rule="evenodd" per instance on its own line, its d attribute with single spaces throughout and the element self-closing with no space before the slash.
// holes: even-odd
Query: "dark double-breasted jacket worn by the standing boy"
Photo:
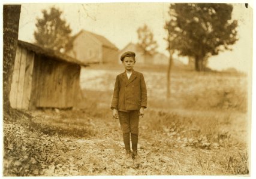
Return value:
<svg viewBox="0 0 256 179">
<path fill-rule="evenodd" d="M 143 74 L 132 71 L 128 79 L 127 73 L 116 76 L 115 89 L 111 109 L 139 110 L 147 107 L 147 88 Z"/>
</svg>

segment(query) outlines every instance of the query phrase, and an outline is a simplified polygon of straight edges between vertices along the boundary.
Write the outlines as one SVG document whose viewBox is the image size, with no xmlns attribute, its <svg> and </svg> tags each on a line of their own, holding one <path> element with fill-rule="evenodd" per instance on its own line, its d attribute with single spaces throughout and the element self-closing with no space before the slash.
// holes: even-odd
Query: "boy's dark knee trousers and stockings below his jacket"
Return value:
<svg viewBox="0 0 256 179">
<path fill-rule="evenodd" d="M 118 112 L 119 122 L 123 132 L 125 150 L 131 150 L 130 147 L 130 134 L 132 150 L 137 151 L 138 146 L 138 110 L 132 110 L 129 112 Z"/>
</svg>

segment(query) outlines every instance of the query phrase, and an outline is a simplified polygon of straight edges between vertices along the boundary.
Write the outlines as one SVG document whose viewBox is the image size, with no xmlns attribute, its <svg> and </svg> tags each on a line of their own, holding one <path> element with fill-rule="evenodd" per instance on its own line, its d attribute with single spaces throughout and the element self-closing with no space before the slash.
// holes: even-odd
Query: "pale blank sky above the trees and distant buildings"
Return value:
<svg viewBox="0 0 256 179">
<path fill-rule="evenodd" d="M 109 39 L 119 50 L 129 42 L 137 42 L 138 27 L 147 24 L 158 42 L 158 51 L 168 56 L 165 50 L 169 3 L 94 3 L 94 4 L 22 4 L 19 39 L 34 42 L 35 23 L 42 17 L 41 10 L 52 6 L 63 11 L 63 16 L 72 29 L 72 35 L 85 29 Z M 252 8 L 234 4 L 233 19 L 238 20 L 239 41 L 233 51 L 225 51 L 209 58 L 209 67 L 216 70 L 234 67 L 248 72 L 252 63 Z M 180 58 L 187 63 L 187 58 Z"/>
</svg>

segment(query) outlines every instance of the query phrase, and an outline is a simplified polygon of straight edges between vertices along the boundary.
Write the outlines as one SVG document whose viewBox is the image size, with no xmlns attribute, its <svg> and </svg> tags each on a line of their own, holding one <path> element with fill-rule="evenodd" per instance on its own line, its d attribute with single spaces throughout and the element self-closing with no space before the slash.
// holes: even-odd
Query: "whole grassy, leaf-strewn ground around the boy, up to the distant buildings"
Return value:
<svg viewBox="0 0 256 179">
<path fill-rule="evenodd" d="M 244 75 L 138 69 L 148 90 L 140 119 L 142 161 L 124 162 L 110 103 L 122 67 L 82 70 L 73 110 L 37 110 L 4 123 L 4 175 L 248 175 L 249 117 Z M 14 169 L 15 168 L 15 169 Z"/>
</svg>

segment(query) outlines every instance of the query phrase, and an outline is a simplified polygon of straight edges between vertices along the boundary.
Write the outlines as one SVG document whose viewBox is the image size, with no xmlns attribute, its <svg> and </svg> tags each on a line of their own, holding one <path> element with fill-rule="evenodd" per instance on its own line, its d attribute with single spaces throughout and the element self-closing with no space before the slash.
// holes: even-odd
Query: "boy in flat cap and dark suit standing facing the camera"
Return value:
<svg viewBox="0 0 256 179">
<path fill-rule="evenodd" d="M 138 121 L 147 107 L 147 89 L 142 73 L 134 71 L 135 53 L 127 51 L 121 55 L 125 72 L 116 76 L 111 109 L 113 118 L 119 119 L 125 144 L 125 159 L 138 160 Z M 130 149 L 130 134 L 132 152 Z"/>
</svg>

